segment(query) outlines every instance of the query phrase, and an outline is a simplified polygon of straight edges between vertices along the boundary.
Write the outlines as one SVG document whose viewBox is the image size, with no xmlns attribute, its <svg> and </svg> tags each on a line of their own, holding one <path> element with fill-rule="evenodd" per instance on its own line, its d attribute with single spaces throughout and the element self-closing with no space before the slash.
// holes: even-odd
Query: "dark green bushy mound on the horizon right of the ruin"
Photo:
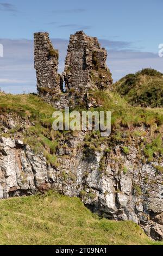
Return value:
<svg viewBox="0 0 163 256">
<path fill-rule="evenodd" d="M 154 69 L 143 69 L 123 77 L 114 84 L 113 90 L 131 105 L 163 106 L 163 74 Z"/>
</svg>

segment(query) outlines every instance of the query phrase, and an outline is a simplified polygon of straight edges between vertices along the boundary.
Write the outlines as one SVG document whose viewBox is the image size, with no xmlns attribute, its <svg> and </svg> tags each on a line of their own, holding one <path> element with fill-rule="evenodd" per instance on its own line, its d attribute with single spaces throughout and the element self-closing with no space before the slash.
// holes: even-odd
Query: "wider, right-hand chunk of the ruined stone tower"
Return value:
<svg viewBox="0 0 163 256">
<path fill-rule="evenodd" d="M 109 88 L 112 78 L 106 66 L 107 52 L 101 48 L 97 38 L 83 31 L 70 36 L 65 60 L 65 86 L 82 90 Z"/>
</svg>

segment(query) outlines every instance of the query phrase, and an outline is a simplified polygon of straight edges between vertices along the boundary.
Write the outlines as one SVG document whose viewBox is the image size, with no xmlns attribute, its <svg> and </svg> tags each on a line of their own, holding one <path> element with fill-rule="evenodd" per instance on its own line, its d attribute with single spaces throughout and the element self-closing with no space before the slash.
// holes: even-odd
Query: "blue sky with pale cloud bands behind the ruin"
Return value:
<svg viewBox="0 0 163 256">
<path fill-rule="evenodd" d="M 149 67 L 163 72 L 158 45 L 163 43 L 162 0 L 0 0 L 0 88 L 22 93 L 36 90 L 33 33 L 47 31 L 59 48 L 59 71 L 70 34 L 84 30 L 108 50 L 114 81 Z"/>
</svg>

